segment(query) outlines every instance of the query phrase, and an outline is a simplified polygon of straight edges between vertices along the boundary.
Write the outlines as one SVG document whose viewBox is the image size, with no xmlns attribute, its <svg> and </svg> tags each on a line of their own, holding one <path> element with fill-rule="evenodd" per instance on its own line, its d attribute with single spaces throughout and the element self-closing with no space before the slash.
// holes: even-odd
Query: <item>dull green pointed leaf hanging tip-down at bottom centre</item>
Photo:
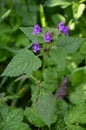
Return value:
<svg viewBox="0 0 86 130">
<path fill-rule="evenodd" d="M 56 100 L 51 94 L 41 94 L 33 104 L 39 117 L 50 127 L 56 121 Z"/>
</svg>

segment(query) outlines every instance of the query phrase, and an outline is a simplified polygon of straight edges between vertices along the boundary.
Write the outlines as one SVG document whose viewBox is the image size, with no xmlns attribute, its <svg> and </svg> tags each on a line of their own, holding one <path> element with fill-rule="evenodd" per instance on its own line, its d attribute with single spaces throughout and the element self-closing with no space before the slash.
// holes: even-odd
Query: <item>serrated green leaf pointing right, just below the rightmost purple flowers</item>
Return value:
<svg viewBox="0 0 86 130">
<path fill-rule="evenodd" d="M 56 43 L 57 47 L 63 47 L 67 53 L 74 53 L 80 47 L 84 38 L 60 36 Z"/>
</svg>

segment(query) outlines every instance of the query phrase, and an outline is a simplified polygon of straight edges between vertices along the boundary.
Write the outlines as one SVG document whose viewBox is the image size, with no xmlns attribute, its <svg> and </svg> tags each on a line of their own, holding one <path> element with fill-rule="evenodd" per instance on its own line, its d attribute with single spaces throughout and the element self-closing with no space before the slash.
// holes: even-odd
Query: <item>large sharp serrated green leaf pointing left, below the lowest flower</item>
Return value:
<svg viewBox="0 0 86 130">
<path fill-rule="evenodd" d="M 29 50 L 22 50 L 8 64 L 2 76 L 15 77 L 22 74 L 31 74 L 41 66 L 41 61 Z"/>
</svg>

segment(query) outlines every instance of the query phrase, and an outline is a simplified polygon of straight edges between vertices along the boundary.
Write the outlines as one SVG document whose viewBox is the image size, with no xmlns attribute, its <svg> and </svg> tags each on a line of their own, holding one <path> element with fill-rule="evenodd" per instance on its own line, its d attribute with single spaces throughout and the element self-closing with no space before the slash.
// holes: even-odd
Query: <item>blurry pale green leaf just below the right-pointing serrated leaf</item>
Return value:
<svg viewBox="0 0 86 130">
<path fill-rule="evenodd" d="M 49 57 L 52 64 L 58 65 L 63 70 L 66 67 L 66 51 L 62 47 L 52 48 Z"/>
</svg>

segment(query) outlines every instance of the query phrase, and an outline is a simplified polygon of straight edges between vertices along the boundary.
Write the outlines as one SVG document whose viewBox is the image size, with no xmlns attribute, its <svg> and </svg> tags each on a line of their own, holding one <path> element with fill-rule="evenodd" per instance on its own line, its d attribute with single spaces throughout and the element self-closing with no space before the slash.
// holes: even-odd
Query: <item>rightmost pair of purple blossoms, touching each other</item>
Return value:
<svg viewBox="0 0 86 130">
<path fill-rule="evenodd" d="M 65 22 L 60 22 L 57 28 L 64 33 L 66 36 L 68 36 L 69 33 L 69 27 L 65 26 Z"/>
</svg>

